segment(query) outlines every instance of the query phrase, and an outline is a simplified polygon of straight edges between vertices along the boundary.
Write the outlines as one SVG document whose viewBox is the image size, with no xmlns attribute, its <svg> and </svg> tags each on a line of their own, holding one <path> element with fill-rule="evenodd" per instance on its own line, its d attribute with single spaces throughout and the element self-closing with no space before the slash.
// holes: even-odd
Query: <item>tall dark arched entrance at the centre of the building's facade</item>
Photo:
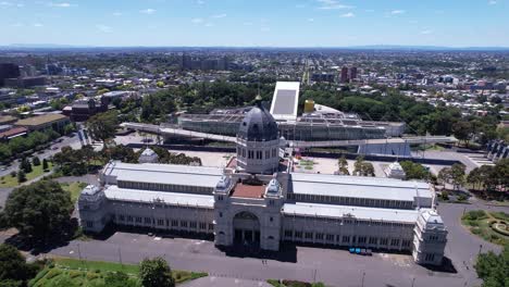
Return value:
<svg viewBox="0 0 509 287">
<path fill-rule="evenodd" d="M 251 212 L 243 211 L 233 219 L 234 242 L 244 246 L 260 246 L 260 221 Z"/>
</svg>

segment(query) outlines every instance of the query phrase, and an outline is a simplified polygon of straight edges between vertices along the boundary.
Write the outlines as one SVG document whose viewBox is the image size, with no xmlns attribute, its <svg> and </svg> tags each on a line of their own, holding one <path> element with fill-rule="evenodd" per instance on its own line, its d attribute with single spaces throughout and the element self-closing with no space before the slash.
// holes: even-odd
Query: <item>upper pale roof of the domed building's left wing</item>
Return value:
<svg viewBox="0 0 509 287">
<path fill-rule="evenodd" d="M 220 167 L 110 162 L 104 167 L 103 174 L 116 176 L 116 180 L 123 182 L 157 183 L 213 188 L 221 179 L 223 171 Z"/>
</svg>

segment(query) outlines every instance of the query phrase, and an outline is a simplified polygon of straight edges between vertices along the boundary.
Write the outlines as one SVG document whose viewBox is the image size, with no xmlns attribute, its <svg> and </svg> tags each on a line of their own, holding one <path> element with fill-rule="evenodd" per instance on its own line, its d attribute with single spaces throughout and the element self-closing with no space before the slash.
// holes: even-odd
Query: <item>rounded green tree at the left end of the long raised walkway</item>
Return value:
<svg viewBox="0 0 509 287">
<path fill-rule="evenodd" d="M 88 118 L 86 126 L 88 133 L 94 140 L 104 142 L 115 135 L 119 121 L 115 111 L 99 113 Z"/>
</svg>

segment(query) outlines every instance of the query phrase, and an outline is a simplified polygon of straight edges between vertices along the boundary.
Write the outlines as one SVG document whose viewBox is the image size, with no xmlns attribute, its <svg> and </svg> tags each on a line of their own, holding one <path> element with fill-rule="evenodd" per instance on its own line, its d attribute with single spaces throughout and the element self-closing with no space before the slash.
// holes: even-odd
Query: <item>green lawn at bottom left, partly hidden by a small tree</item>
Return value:
<svg viewBox="0 0 509 287">
<path fill-rule="evenodd" d="M 138 265 L 64 258 L 54 259 L 54 266 L 45 267 L 30 282 L 29 286 L 98 286 L 104 284 L 107 273 L 117 271 L 126 273 L 138 283 L 138 286 L 141 286 L 138 282 Z M 172 273 L 177 284 L 208 275 L 207 273 L 175 270 Z"/>
</svg>

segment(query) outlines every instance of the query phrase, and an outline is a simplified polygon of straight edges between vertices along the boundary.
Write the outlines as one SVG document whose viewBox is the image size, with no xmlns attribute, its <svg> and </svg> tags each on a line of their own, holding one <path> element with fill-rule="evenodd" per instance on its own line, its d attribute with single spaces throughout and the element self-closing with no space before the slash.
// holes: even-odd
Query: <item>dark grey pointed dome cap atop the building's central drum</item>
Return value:
<svg viewBox="0 0 509 287">
<path fill-rule="evenodd" d="M 244 117 L 237 136 L 248 141 L 276 140 L 277 124 L 272 114 L 259 102 Z"/>
</svg>

